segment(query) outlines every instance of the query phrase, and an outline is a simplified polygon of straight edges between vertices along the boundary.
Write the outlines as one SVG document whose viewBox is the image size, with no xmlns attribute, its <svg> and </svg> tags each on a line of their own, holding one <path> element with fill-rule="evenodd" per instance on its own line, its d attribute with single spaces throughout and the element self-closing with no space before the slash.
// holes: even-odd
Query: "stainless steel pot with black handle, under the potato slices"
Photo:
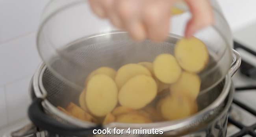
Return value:
<svg viewBox="0 0 256 137">
<path fill-rule="evenodd" d="M 200 96 L 198 101 L 201 102 L 198 102 L 198 105 L 199 108 L 203 109 L 191 117 L 150 124 L 111 123 L 106 126 L 80 121 L 59 111 L 56 106 L 65 107 L 70 101 L 77 103 L 80 93 L 68 94 L 74 89 L 56 78 L 47 69 L 45 64 L 41 64 L 35 72 L 31 83 L 30 91 L 33 103 L 28 110 L 28 114 L 36 126 L 50 133 L 58 133 L 60 135 L 84 136 L 91 135 L 94 129 L 106 127 L 113 129 L 116 127 L 120 129 L 162 129 L 164 135 L 175 137 L 182 135 L 224 137 L 226 135 L 228 108 L 231 105 L 234 93 L 230 77 L 239 68 L 240 63 L 241 56 L 233 50 L 233 63 L 229 74 L 226 75 L 223 81 L 211 89 L 214 92 Z"/>
</svg>

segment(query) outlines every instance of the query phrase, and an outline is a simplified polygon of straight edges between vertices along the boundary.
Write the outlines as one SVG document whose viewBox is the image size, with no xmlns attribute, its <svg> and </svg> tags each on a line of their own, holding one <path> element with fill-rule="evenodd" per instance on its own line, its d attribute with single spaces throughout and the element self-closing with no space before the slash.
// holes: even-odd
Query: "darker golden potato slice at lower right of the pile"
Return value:
<svg viewBox="0 0 256 137">
<path fill-rule="evenodd" d="M 188 117 L 191 114 L 190 101 L 182 96 L 169 96 L 164 99 L 161 105 L 161 114 L 167 120 Z"/>
</svg>

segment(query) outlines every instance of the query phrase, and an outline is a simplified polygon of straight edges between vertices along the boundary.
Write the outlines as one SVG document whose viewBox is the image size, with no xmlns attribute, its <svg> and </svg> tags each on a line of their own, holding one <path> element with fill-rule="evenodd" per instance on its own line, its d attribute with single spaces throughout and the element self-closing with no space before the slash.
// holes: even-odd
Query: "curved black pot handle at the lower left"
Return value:
<svg viewBox="0 0 256 137">
<path fill-rule="evenodd" d="M 78 137 L 93 135 L 93 130 L 103 129 L 102 126 L 79 128 L 77 126 L 60 123 L 44 112 L 42 101 L 43 99 L 41 98 L 35 98 L 28 108 L 28 116 L 30 120 L 39 128 L 58 135 L 75 135 Z"/>
</svg>

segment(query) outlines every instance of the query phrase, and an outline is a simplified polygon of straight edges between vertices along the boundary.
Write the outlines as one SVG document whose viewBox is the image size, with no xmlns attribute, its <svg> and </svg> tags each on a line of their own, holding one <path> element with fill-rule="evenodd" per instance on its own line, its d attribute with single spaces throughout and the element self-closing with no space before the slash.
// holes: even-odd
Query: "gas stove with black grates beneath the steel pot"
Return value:
<svg viewBox="0 0 256 137">
<path fill-rule="evenodd" d="M 249 52 L 256 57 L 256 52 L 234 42 L 234 49 Z M 243 57 L 243 55 L 242 55 Z M 256 137 L 256 66 L 242 59 L 240 71 L 233 76 L 236 93 L 229 110 L 227 137 Z M 26 123 L 29 123 L 26 121 Z M 220 128 L 220 127 L 215 127 Z M 24 123 L 9 130 L 3 137 L 52 137 L 33 124 Z"/>
</svg>

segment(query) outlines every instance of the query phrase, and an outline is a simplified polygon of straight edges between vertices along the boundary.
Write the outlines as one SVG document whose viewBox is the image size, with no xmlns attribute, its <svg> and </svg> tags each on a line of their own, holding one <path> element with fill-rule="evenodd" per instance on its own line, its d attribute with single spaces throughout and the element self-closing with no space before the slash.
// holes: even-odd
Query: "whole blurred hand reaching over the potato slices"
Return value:
<svg viewBox="0 0 256 137">
<path fill-rule="evenodd" d="M 164 40 L 169 33 L 172 5 L 177 0 L 89 0 L 94 13 L 125 29 L 135 40 Z M 185 36 L 213 24 L 208 0 L 185 0 L 192 13 Z"/>
</svg>

